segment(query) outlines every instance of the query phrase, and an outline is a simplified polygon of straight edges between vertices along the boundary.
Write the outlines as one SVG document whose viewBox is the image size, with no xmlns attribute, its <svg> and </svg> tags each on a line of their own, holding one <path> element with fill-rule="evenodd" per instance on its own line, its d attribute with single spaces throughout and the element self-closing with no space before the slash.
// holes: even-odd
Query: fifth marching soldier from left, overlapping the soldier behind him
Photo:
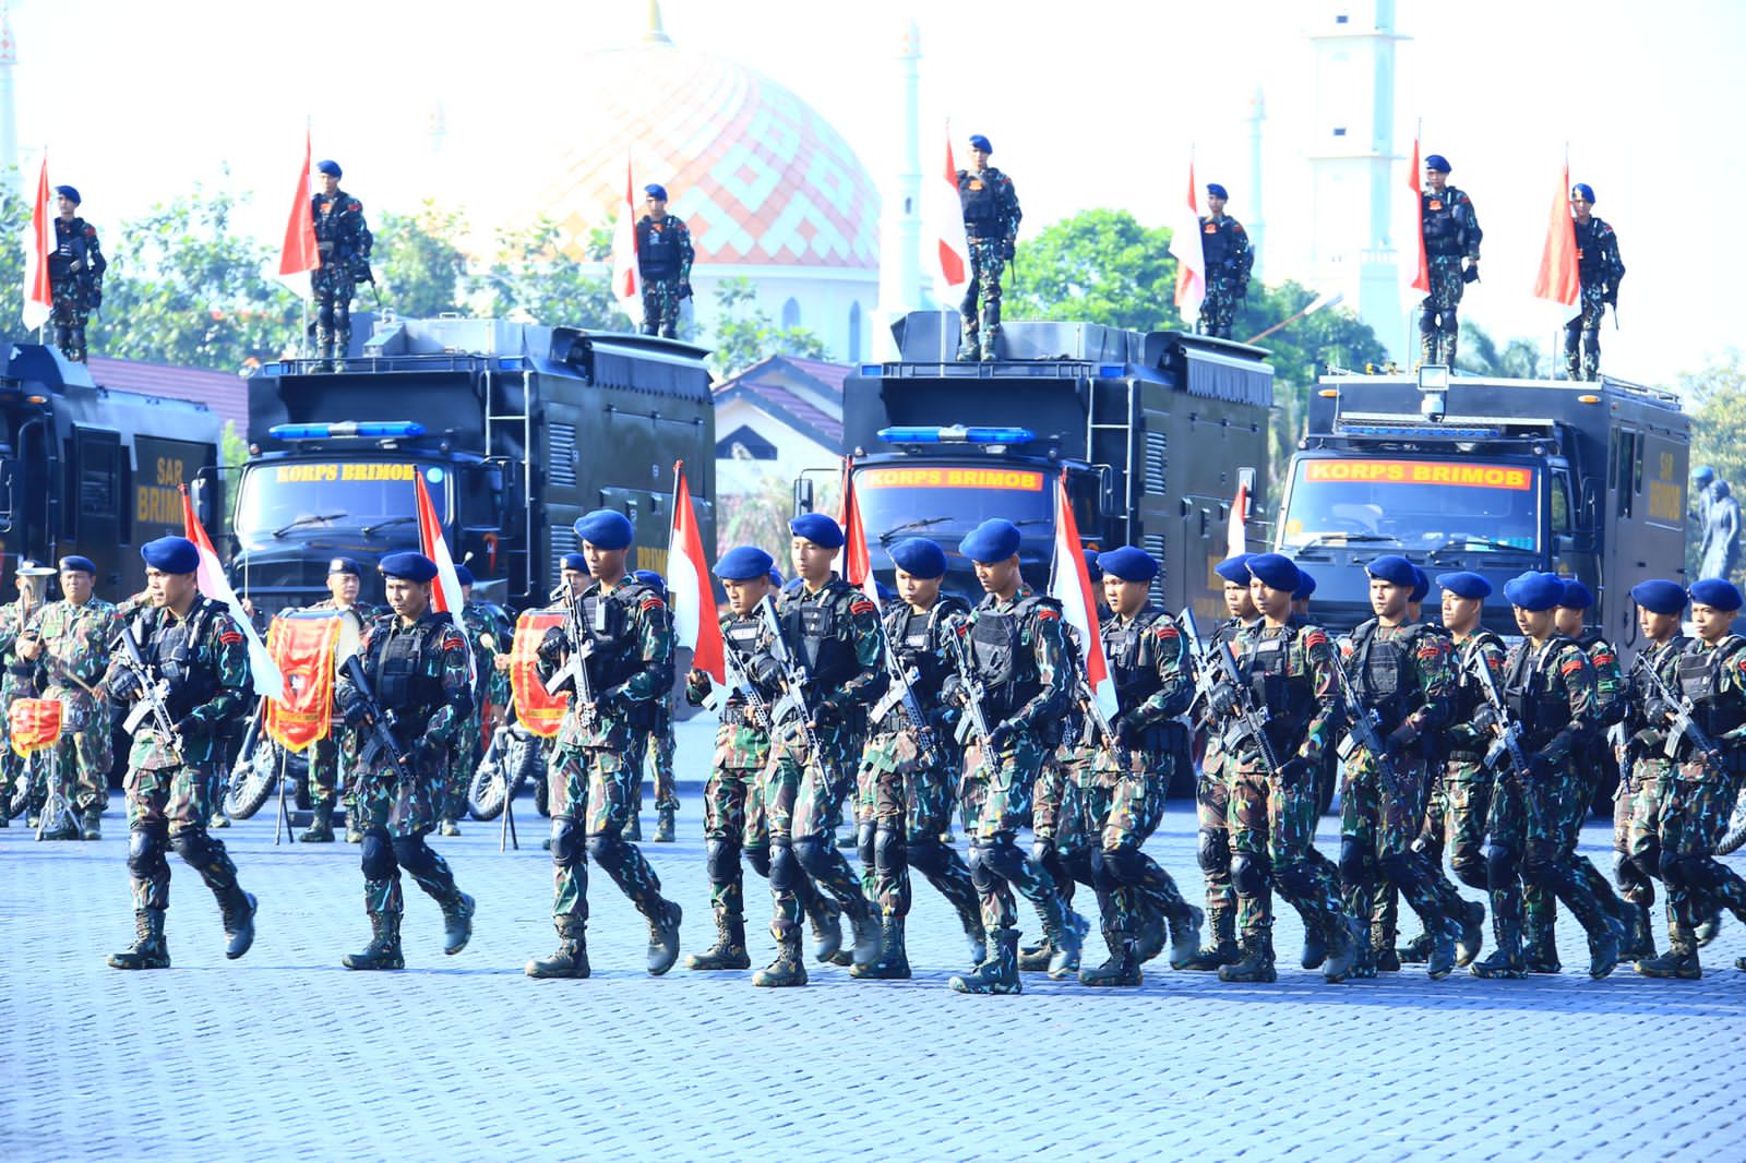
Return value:
<svg viewBox="0 0 1746 1163">
<path fill-rule="evenodd" d="M 772 761 L 765 770 L 765 810 L 770 815 L 770 894 L 775 917 L 770 932 L 777 955 L 753 974 L 753 985 L 807 983 L 800 959 L 800 915 L 817 892 L 815 955 L 831 960 L 842 943 L 833 939 L 838 917 L 854 927 L 854 964 L 870 964 L 880 950 L 878 910 L 866 899 L 849 861 L 831 842 L 831 821 L 854 788 L 866 707 L 885 692 L 880 665 L 878 611 L 856 587 L 831 573 L 843 531 L 824 513 L 803 513 L 789 522 L 796 582 L 773 599 L 773 627 L 766 627 L 756 678 L 787 685 L 791 660 L 800 690 L 787 688 L 787 714 L 772 726 Z M 772 606 L 765 608 L 765 613 Z M 780 636 L 780 641 L 775 641 Z M 812 716 L 807 721 L 800 705 Z"/>
</svg>

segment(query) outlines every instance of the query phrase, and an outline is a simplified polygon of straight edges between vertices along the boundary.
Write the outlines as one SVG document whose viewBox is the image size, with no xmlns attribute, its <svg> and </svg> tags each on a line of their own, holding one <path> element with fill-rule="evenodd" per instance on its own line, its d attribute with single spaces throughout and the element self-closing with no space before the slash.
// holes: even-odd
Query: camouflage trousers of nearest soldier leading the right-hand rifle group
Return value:
<svg viewBox="0 0 1746 1163">
<path fill-rule="evenodd" d="M 1339 873 L 1315 849 L 1315 775 L 1285 782 L 1241 763 L 1229 782 L 1231 887 L 1236 927 L 1248 938 L 1273 929 L 1273 889 L 1329 941 L 1346 924 Z"/>
</svg>

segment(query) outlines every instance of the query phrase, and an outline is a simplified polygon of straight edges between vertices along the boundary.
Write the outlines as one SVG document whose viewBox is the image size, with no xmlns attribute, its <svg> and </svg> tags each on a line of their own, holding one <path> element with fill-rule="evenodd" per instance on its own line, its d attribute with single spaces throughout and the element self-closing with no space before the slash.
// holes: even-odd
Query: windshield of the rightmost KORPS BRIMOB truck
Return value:
<svg viewBox="0 0 1746 1163">
<path fill-rule="evenodd" d="M 1533 465 L 1306 458 L 1292 473 L 1280 548 L 1362 541 L 1407 550 L 1535 552 L 1540 508 L 1540 470 Z"/>
</svg>

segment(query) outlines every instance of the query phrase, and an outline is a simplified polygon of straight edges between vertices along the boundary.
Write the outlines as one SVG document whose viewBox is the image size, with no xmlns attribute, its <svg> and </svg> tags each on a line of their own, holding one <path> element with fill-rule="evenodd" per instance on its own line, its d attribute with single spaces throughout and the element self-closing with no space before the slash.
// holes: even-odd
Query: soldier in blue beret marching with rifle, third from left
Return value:
<svg viewBox="0 0 1746 1163">
<path fill-rule="evenodd" d="M 527 962 L 527 976 L 588 976 L 588 857 L 648 920 L 648 971 L 660 976 L 679 957 L 681 910 L 662 898 L 660 877 L 623 833 L 655 725 L 653 702 L 672 686 L 672 622 L 667 602 L 625 571 L 634 536 L 629 517 L 595 510 L 576 520 L 576 536 L 594 582 L 571 604 L 566 629 L 550 630 L 540 646 L 541 676 L 566 672 L 573 683 L 546 777 L 559 946 Z"/>
</svg>

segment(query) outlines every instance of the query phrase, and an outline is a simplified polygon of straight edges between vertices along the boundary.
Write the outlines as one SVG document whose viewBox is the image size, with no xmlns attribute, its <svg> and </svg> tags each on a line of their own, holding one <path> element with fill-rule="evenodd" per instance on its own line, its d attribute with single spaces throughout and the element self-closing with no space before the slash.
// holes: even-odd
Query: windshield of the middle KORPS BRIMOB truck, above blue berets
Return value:
<svg viewBox="0 0 1746 1163">
<path fill-rule="evenodd" d="M 932 538 L 952 548 L 990 517 L 1048 526 L 1053 480 L 1037 468 L 870 465 L 856 470 L 856 498 L 870 547 Z"/>
</svg>

